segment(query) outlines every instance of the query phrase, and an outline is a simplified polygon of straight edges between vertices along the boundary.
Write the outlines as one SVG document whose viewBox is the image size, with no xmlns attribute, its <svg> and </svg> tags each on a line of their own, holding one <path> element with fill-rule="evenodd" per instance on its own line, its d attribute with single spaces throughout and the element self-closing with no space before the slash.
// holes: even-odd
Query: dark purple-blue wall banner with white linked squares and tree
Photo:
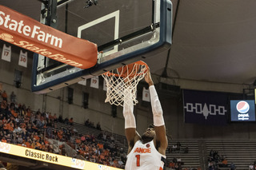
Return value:
<svg viewBox="0 0 256 170">
<path fill-rule="evenodd" d="M 227 125 L 227 93 L 183 90 L 185 123 Z"/>
</svg>

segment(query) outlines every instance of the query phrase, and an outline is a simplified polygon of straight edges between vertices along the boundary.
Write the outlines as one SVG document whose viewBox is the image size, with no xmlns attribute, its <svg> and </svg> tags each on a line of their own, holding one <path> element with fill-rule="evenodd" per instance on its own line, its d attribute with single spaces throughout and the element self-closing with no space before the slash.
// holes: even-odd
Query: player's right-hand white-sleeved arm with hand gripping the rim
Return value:
<svg viewBox="0 0 256 170">
<path fill-rule="evenodd" d="M 158 99 L 158 93 L 154 88 L 154 82 L 150 76 L 150 71 L 146 73 L 145 81 L 149 85 L 150 89 L 150 102 L 153 112 L 153 121 L 154 121 L 154 130 L 156 133 L 156 137 L 154 141 L 155 143 L 160 143 L 158 147 L 158 152 L 166 155 L 166 148 L 168 147 L 168 140 L 166 137 L 166 126 L 162 116 L 162 106 Z"/>
</svg>

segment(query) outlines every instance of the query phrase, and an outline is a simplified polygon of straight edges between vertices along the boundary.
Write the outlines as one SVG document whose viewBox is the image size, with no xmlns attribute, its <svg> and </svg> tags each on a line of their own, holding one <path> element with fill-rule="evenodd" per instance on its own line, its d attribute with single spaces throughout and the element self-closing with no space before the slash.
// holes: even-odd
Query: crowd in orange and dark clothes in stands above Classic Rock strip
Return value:
<svg viewBox="0 0 256 170">
<path fill-rule="evenodd" d="M 17 104 L 16 95 L 11 93 L 10 100 L 6 91 L 0 92 L 2 97 L 0 108 L 0 140 L 17 144 L 27 148 L 34 148 L 45 152 L 52 152 L 67 156 L 64 144 L 58 147 L 50 144 L 47 139 L 59 140 L 70 144 L 85 160 L 112 167 L 124 168 L 126 154 L 114 141 L 114 137 L 107 132 L 98 136 L 93 134 L 78 134 L 74 128 L 74 121 L 62 119 L 56 114 L 32 111 L 30 106 Z M 90 128 L 101 130 L 99 123 L 96 127 L 89 120 Z M 68 125 L 68 128 L 57 128 L 56 124 Z"/>
</svg>

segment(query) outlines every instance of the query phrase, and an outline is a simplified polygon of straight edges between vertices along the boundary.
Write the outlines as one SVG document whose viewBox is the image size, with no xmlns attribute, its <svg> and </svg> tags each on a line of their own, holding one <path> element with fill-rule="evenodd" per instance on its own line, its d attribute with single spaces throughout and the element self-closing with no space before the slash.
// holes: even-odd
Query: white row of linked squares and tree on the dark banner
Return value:
<svg viewBox="0 0 256 170">
<path fill-rule="evenodd" d="M 225 116 L 226 108 L 222 105 L 201 104 L 201 103 L 186 103 L 184 109 L 187 113 L 202 114 L 206 119 L 209 115 Z"/>
</svg>

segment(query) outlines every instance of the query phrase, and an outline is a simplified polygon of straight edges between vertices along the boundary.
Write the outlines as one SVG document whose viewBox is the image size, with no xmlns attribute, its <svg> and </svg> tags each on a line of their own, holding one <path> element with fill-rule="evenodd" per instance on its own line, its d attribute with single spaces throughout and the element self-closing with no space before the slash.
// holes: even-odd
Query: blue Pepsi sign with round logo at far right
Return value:
<svg viewBox="0 0 256 170">
<path fill-rule="evenodd" d="M 255 121 L 255 104 L 253 100 L 231 100 L 231 121 Z"/>
</svg>

